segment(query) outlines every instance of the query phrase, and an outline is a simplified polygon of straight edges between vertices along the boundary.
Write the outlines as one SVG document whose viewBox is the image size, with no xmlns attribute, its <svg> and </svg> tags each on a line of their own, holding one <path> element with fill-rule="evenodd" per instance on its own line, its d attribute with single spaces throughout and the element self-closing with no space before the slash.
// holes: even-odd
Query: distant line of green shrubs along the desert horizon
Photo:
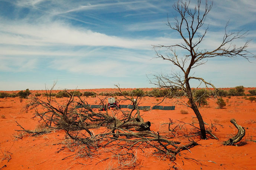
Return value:
<svg viewBox="0 0 256 170">
<path fill-rule="evenodd" d="M 244 93 L 243 86 L 236 86 L 234 88 L 230 88 L 229 90 L 218 89 L 218 91 L 207 90 L 207 89 L 194 89 L 194 97 L 198 100 L 200 104 L 204 104 L 204 99 L 208 97 L 217 95 L 220 97 L 227 97 L 227 96 L 256 96 L 256 89 L 248 90 L 247 93 Z M 121 96 L 116 91 L 105 91 L 100 93 L 95 93 L 93 90 L 91 91 L 83 91 L 81 93 L 79 90 L 70 90 L 70 93 L 74 96 L 85 96 L 85 97 L 96 97 L 96 96 Z M 152 89 L 152 90 L 145 90 L 145 89 L 134 89 L 134 90 L 127 90 L 122 92 L 125 96 L 149 96 L 149 97 L 168 97 L 172 98 L 173 96 L 184 96 L 181 91 L 175 90 L 170 91 L 170 89 Z M 18 93 L 7 93 L 7 92 L 0 92 L 0 98 L 7 98 L 7 97 L 20 97 L 20 98 L 27 98 L 30 94 L 32 94 L 29 89 L 21 90 Z M 49 93 L 33 93 L 35 96 L 49 96 Z M 62 97 L 70 97 L 65 90 L 58 91 L 58 93 L 51 93 L 51 96 L 62 98 Z"/>
</svg>

